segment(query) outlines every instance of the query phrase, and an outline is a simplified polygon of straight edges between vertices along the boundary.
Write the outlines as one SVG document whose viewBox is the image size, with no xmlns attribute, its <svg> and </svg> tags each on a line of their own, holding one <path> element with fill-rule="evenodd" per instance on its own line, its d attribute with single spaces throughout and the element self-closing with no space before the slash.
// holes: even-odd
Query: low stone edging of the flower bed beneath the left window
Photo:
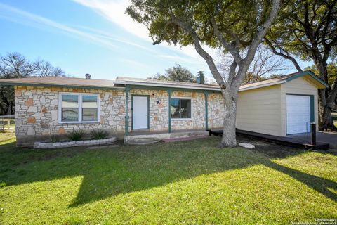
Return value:
<svg viewBox="0 0 337 225">
<path fill-rule="evenodd" d="M 68 141 L 68 142 L 35 142 L 34 148 L 69 148 L 77 146 L 98 146 L 105 145 L 107 143 L 113 143 L 117 140 L 117 137 L 112 137 L 110 139 L 100 139 L 100 140 L 87 140 L 87 141 Z"/>
</svg>

